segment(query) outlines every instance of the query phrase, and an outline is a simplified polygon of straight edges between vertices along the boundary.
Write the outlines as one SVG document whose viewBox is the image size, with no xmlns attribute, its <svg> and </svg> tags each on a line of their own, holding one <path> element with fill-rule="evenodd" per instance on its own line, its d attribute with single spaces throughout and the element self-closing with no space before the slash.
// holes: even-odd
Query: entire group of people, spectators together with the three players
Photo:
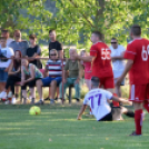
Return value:
<svg viewBox="0 0 149 149">
<path fill-rule="evenodd" d="M 49 59 L 42 69 L 42 50 L 37 44 L 36 34 L 29 36 L 29 46 L 28 41 L 21 39 L 20 30 L 16 30 L 11 39 L 9 31 L 4 29 L 0 37 L 0 98 L 12 97 L 14 103 L 19 93 L 19 88 L 14 88 L 14 85 L 20 81 L 23 103 L 27 103 L 27 86 L 30 89 L 31 103 L 34 103 L 36 87 L 39 93 L 39 101 L 36 103 L 43 105 L 42 87 L 49 87 L 50 103 L 54 103 L 56 93 L 60 99 L 66 99 L 66 89 L 72 85 L 76 90 L 74 98 L 80 101 L 80 80 L 85 73 L 89 92 L 85 97 L 78 120 L 81 119 L 87 105 L 98 121 L 118 120 L 113 115 L 113 111 L 117 111 L 120 117 L 121 113 L 135 117 L 136 131 L 131 136 L 140 136 L 142 107 L 149 111 L 149 41 L 141 38 L 141 28 L 138 24 L 131 27 L 130 36 L 132 41 L 126 50 L 116 38 L 111 38 L 111 47 L 108 47 L 102 41 L 102 33 L 93 31 L 90 53 L 82 50 L 78 54 L 76 49 L 70 48 L 70 58 L 66 60 L 62 44 L 57 41 L 56 30 L 50 30 Z M 122 103 L 131 102 L 120 98 L 120 86 L 125 86 L 128 71 L 135 113 L 122 107 Z M 112 108 L 109 106 L 110 99 Z M 116 108 L 120 108 L 120 111 Z"/>
</svg>

